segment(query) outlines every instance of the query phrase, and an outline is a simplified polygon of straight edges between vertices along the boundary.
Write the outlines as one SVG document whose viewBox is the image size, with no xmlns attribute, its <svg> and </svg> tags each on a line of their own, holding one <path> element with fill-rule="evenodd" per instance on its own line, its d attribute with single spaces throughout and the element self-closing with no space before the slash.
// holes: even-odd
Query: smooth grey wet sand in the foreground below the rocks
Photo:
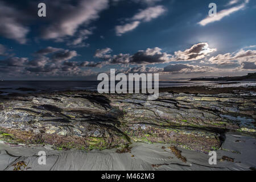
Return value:
<svg viewBox="0 0 256 182">
<path fill-rule="evenodd" d="M 217 150 L 217 164 L 210 165 L 210 156 L 179 148 L 187 158 L 184 163 L 175 156 L 168 144 L 134 143 L 131 152 L 118 154 L 112 150 L 90 152 L 51 150 L 50 146 L 8 146 L 0 143 L 0 170 L 11 171 L 13 164 L 24 161 L 26 170 L 251 170 L 256 167 L 255 135 L 227 133 L 222 149 Z M 163 147 L 164 146 L 164 147 Z M 46 152 L 46 165 L 38 164 L 38 152 Z M 220 162 L 222 156 L 234 162 Z M 250 169 L 251 168 L 251 169 Z"/>
</svg>

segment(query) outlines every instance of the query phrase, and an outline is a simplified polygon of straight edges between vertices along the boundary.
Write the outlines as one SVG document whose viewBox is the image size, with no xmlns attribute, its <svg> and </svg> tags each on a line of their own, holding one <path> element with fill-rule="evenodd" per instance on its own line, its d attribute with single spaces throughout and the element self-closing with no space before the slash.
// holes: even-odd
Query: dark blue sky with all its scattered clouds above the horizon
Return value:
<svg viewBox="0 0 256 182">
<path fill-rule="evenodd" d="M 256 71 L 255 17 L 253 0 L 0 0 L 0 77 L 95 80 L 110 68 L 161 80 L 245 75 Z"/>
</svg>

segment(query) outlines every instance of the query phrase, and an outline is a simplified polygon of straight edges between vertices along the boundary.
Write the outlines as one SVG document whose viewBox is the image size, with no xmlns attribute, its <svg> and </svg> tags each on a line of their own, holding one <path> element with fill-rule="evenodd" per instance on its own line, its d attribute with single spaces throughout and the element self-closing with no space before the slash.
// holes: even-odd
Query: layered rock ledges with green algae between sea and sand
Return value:
<svg viewBox="0 0 256 182">
<path fill-rule="evenodd" d="M 86 91 L 1 96 L 0 140 L 11 146 L 123 152 L 133 142 L 162 143 L 208 153 L 221 148 L 226 131 L 255 135 L 256 97 L 244 94 L 245 88 L 180 90 L 164 89 L 155 101 L 144 94 Z"/>
</svg>

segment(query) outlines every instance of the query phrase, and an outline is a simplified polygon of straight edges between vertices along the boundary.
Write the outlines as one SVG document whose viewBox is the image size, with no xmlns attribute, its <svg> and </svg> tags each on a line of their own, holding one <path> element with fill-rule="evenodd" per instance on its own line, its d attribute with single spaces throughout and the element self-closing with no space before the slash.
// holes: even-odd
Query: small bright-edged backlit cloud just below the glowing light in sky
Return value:
<svg viewBox="0 0 256 182">
<path fill-rule="evenodd" d="M 209 53 L 217 51 L 217 49 L 209 48 L 208 43 L 198 43 L 193 45 L 191 48 L 186 49 L 185 51 L 176 51 L 175 58 L 173 61 L 184 60 L 184 61 L 192 61 L 203 59 Z"/>
</svg>

